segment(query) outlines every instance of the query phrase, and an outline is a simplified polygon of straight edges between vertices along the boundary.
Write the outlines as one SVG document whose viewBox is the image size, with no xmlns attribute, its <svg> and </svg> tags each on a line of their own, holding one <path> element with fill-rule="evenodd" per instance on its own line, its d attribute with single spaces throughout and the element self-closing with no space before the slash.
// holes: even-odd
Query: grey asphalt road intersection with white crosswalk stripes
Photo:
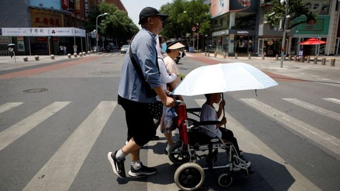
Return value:
<svg viewBox="0 0 340 191">
<path fill-rule="evenodd" d="M 106 154 L 126 141 L 125 114 L 117 104 L 125 54 L 104 53 L 0 71 L 1 191 L 177 191 L 166 141 L 151 141 L 142 162 L 158 172 L 117 178 Z M 280 85 L 225 93 L 227 128 L 233 130 L 255 173 L 233 174 L 231 191 L 340 190 L 340 68 L 274 60 L 208 58 L 188 54 L 181 74 L 224 62 L 250 63 Z M 44 92 L 24 90 L 45 88 Z M 204 96 L 184 97 L 199 107 Z M 219 155 L 220 156 L 220 155 Z M 223 156 L 221 156 L 223 158 Z M 220 160 L 220 159 L 219 159 Z M 129 170 L 130 159 L 125 162 Z M 222 191 L 223 171 L 206 171 L 199 190 Z"/>
</svg>

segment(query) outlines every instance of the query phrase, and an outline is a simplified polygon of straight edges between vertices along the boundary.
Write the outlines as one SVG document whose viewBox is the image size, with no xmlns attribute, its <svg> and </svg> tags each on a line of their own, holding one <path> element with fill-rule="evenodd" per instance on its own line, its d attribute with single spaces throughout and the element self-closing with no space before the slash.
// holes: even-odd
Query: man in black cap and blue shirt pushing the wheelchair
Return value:
<svg viewBox="0 0 340 191">
<path fill-rule="evenodd" d="M 168 15 L 152 7 L 144 8 L 139 14 L 142 29 L 132 39 L 130 50 L 124 59 L 122 76 L 118 87 L 118 103 L 125 110 L 127 121 L 127 144 L 116 152 L 107 153 L 114 174 L 125 178 L 125 157 L 130 154 L 131 166 L 128 174 L 142 177 L 157 172 L 146 167 L 140 160 L 140 148 L 156 134 L 149 103 L 159 96 L 163 105 L 174 106 L 174 101 L 162 89 L 156 52 L 157 35 L 162 30 L 162 20 Z"/>
</svg>

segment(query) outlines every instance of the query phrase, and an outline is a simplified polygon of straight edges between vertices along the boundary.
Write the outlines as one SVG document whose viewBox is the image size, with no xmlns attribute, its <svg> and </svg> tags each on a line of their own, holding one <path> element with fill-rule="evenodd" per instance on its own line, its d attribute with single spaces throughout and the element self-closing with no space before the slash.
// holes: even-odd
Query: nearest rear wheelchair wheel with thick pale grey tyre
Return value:
<svg viewBox="0 0 340 191">
<path fill-rule="evenodd" d="M 174 180 L 178 188 L 183 191 L 194 191 L 204 182 L 204 171 L 196 163 L 184 163 L 175 172 Z"/>
</svg>

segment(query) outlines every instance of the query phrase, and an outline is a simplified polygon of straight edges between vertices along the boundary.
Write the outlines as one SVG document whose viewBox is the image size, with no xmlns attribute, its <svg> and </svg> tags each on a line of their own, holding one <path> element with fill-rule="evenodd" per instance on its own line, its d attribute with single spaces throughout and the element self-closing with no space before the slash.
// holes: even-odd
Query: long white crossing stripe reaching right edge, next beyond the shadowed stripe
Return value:
<svg viewBox="0 0 340 191">
<path fill-rule="evenodd" d="M 290 115 L 280 112 L 265 103 L 262 103 L 254 98 L 246 99 L 241 98 L 241 101 L 262 112 L 265 115 L 275 119 L 276 121 L 283 124 L 283 127 L 288 127 L 288 130 L 294 130 L 310 140 L 319 143 L 324 148 L 329 149 L 333 153 L 340 156 L 340 139 L 327 134 L 303 121 L 300 121 Z M 298 134 L 298 135 L 299 135 Z"/>
</svg>

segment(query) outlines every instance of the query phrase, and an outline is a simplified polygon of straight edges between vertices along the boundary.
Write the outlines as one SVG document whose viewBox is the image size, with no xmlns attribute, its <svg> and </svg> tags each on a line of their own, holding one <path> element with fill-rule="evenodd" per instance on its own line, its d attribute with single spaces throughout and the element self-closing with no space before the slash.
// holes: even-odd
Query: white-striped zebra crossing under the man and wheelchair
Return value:
<svg viewBox="0 0 340 191">
<path fill-rule="evenodd" d="M 340 99 L 337 98 L 320 99 L 330 103 L 335 103 L 336 106 L 340 104 Z M 294 116 L 287 115 L 285 112 L 279 111 L 278 109 L 255 98 L 239 98 L 238 100 L 244 105 L 255 109 L 255 112 L 263 114 L 270 119 L 277 121 L 279 124 L 282 124 L 282 127 L 287 128 L 294 134 L 299 135 L 302 139 L 307 138 L 309 142 L 315 143 L 318 146 L 321 145 L 319 149 L 322 151 L 330 151 L 340 158 L 340 139 L 336 136 L 327 134 L 326 132 L 313 127 L 312 125 L 307 124 L 306 122 L 301 121 Z M 282 98 L 282 100 L 287 101 L 290 104 L 294 104 L 295 106 L 304 110 L 313 111 L 317 115 L 326 116 L 340 121 L 340 114 L 337 112 L 321 108 L 317 105 L 299 100 L 297 98 Z M 195 99 L 195 102 L 201 106 L 204 103 L 204 100 Z M 36 113 L 27 116 L 18 123 L 1 131 L 0 152 L 8 145 L 15 142 L 22 135 L 34 129 L 47 118 L 53 117 L 53 115 L 58 112 L 67 110 L 66 106 L 70 103 L 71 101 L 56 101 L 50 103 Z M 25 102 L 4 103 L 0 105 L 0 114 L 10 110 L 15 110 L 18 106 L 23 104 L 25 104 Z M 53 156 L 43 165 L 40 171 L 33 176 L 33 178 L 27 183 L 23 190 L 67 191 L 74 181 L 80 168 L 82 167 L 88 153 L 91 151 L 97 137 L 102 132 L 108 119 L 114 112 L 116 106 L 116 101 L 101 101 L 85 118 L 85 120 L 76 128 L 76 130 L 64 141 L 62 146 L 53 154 Z M 287 168 L 287 170 L 296 180 L 292 185 L 291 190 L 319 190 L 316 185 L 304 177 L 304 175 L 298 172 L 294 167 L 286 164 L 284 159 L 282 159 L 268 145 L 257 138 L 255 134 L 252 134 L 250 131 L 248 131 L 247 127 L 241 125 L 241 123 L 239 123 L 228 113 L 225 114 L 228 120 L 228 129 L 231 129 L 235 134 L 242 134 L 242 136 L 238 136 L 238 139 L 239 142 L 242 143 L 242 149 L 245 152 L 262 154 Z M 149 151 L 148 155 L 149 158 L 152 158 L 150 156 L 154 155 L 154 153 Z M 159 156 L 157 155 L 157 157 Z M 160 160 L 148 160 L 148 164 L 150 166 L 157 166 L 161 165 L 158 164 L 157 161 L 159 163 L 167 161 L 167 155 L 162 155 L 161 157 L 164 158 Z M 259 172 L 262 173 L 261 170 Z M 152 177 L 150 178 L 152 179 Z M 273 182 L 270 184 L 275 183 Z M 167 186 L 169 187 L 170 185 Z M 159 187 L 153 184 L 152 181 L 148 182 L 148 188 L 149 191 L 159 189 Z M 176 189 L 174 184 L 171 184 L 171 188 Z"/>
</svg>

